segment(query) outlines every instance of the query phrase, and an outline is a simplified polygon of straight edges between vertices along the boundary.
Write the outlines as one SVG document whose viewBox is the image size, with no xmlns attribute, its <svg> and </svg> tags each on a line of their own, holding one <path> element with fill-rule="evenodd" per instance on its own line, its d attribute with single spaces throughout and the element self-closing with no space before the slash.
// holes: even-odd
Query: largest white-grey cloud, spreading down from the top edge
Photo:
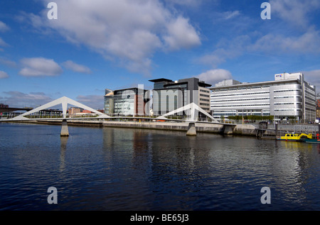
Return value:
<svg viewBox="0 0 320 225">
<path fill-rule="evenodd" d="M 48 4 L 48 1 L 44 1 Z M 166 9 L 161 1 L 56 0 L 58 19 L 30 15 L 44 31 L 58 31 L 71 43 L 85 45 L 133 72 L 151 70 L 156 50 L 179 50 L 199 45 L 200 38 L 188 18 Z M 41 17 L 43 19 L 41 19 Z M 178 31 L 175 29 L 178 28 Z"/>
</svg>

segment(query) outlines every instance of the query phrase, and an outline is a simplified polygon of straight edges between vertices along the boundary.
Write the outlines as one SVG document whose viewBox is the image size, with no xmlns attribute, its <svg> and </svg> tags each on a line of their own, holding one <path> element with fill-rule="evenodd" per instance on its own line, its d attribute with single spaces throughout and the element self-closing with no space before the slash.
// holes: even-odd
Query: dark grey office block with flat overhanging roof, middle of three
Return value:
<svg viewBox="0 0 320 225">
<path fill-rule="evenodd" d="M 152 90 L 152 109 L 154 115 L 163 115 L 191 102 L 210 113 L 211 84 L 200 81 L 196 77 L 179 79 L 150 79 L 154 82 Z"/>
</svg>

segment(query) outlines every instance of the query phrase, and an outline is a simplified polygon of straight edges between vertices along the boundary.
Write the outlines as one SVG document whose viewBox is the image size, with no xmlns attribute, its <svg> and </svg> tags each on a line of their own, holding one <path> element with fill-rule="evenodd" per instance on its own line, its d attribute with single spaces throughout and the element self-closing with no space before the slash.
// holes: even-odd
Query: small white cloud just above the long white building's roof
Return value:
<svg viewBox="0 0 320 225">
<path fill-rule="evenodd" d="M 212 84 L 213 86 L 224 79 L 233 79 L 231 72 L 223 69 L 208 70 L 207 72 L 203 72 L 196 77 L 208 84 Z"/>
</svg>

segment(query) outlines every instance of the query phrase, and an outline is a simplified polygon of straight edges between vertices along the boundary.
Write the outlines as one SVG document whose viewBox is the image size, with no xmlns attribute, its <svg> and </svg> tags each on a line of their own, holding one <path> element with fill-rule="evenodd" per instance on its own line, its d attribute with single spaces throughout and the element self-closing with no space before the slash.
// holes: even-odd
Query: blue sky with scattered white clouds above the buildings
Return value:
<svg viewBox="0 0 320 225">
<path fill-rule="evenodd" d="M 49 2 L 0 1 L 0 103 L 66 96 L 102 109 L 105 88 L 151 89 L 148 80 L 161 77 L 260 82 L 282 72 L 304 72 L 320 90 L 318 0 L 56 0 L 52 20 Z"/>
</svg>

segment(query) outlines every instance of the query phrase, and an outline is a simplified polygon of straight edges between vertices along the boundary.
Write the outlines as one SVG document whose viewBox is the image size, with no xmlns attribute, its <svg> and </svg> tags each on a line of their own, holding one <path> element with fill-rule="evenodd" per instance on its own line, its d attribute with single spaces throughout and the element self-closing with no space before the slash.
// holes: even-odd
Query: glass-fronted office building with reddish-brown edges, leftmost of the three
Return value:
<svg viewBox="0 0 320 225">
<path fill-rule="evenodd" d="M 144 116 L 146 102 L 149 101 L 147 91 L 140 88 L 105 89 L 105 114 L 110 116 Z"/>
</svg>

